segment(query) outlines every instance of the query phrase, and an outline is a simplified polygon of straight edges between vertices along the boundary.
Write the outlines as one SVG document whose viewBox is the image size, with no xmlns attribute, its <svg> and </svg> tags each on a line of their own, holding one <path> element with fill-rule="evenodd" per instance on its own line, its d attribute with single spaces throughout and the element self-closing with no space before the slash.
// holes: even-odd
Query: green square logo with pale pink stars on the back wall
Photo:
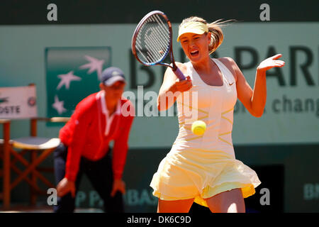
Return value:
<svg viewBox="0 0 319 227">
<path fill-rule="evenodd" d="M 46 65 L 48 116 L 71 116 L 79 101 L 99 91 L 111 48 L 47 48 Z"/>
</svg>

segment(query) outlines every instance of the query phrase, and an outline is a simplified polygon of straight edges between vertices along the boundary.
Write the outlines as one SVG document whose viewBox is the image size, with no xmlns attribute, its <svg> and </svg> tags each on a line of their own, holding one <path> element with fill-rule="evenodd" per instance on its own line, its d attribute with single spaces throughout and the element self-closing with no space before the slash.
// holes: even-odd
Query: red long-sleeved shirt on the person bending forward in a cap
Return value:
<svg viewBox="0 0 319 227">
<path fill-rule="evenodd" d="M 103 93 L 97 92 L 80 101 L 70 121 L 60 130 L 60 140 L 68 147 L 65 177 L 71 181 L 77 179 L 81 157 L 86 157 L 88 160 L 101 159 L 108 153 L 108 144 L 111 140 L 114 140 L 112 159 L 114 179 L 122 177 L 128 151 L 128 135 L 134 118 L 133 114 L 127 114 L 127 111 L 134 111 L 134 107 L 128 99 L 121 99 L 119 104 L 127 110 L 126 114 L 122 111 L 114 113 L 111 126 L 106 131 L 108 122 L 103 111 L 105 107 L 101 94 Z"/>
</svg>

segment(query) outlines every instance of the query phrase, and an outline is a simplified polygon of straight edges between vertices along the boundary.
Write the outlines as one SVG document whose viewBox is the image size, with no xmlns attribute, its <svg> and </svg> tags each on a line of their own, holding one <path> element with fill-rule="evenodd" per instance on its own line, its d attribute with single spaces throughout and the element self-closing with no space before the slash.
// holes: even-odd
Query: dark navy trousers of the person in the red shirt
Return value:
<svg viewBox="0 0 319 227">
<path fill-rule="evenodd" d="M 79 172 L 75 182 L 76 192 L 79 189 L 82 175 L 85 173 L 92 186 L 99 193 L 104 202 L 105 212 L 123 212 L 123 196 L 121 192 L 111 197 L 113 186 L 113 170 L 111 150 L 101 160 L 91 161 L 82 157 L 79 165 Z M 65 163 L 67 160 L 67 147 L 60 143 L 54 152 L 55 181 L 58 184 L 65 177 Z M 71 213 L 75 208 L 75 198 L 71 193 L 57 198 L 57 206 L 54 206 L 55 213 Z"/>
</svg>

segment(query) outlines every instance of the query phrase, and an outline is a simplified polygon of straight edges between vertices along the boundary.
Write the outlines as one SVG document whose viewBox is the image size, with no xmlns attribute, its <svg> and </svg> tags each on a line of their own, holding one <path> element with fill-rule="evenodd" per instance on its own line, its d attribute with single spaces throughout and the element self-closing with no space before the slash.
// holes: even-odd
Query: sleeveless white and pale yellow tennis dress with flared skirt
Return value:
<svg viewBox="0 0 319 227">
<path fill-rule="evenodd" d="M 223 74 L 223 86 L 206 84 L 191 62 L 185 63 L 193 87 L 177 98 L 179 134 L 150 183 L 153 194 L 160 199 L 195 198 L 197 204 L 208 206 L 205 199 L 220 192 L 240 188 L 246 198 L 261 183 L 254 170 L 235 159 L 232 140 L 237 101 L 235 78 L 222 62 L 212 60 Z M 196 110 L 196 119 L 186 115 L 186 107 Z M 191 123 L 196 120 L 206 123 L 201 136 L 191 132 Z"/>
</svg>

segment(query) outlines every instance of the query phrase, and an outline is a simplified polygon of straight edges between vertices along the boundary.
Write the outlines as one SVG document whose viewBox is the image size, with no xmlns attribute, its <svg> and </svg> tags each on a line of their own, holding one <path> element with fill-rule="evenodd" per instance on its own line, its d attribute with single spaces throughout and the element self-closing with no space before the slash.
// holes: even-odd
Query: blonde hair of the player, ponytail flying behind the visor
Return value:
<svg viewBox="0 0 319 227">
<path fill-rule="evenodd" d="M 198 16 L 191 16 L 181 21 L 179 28 L 181 28 L 184 23 L 188 23 L 191 21 L 201 22 L 207 25 L 208 31 L 211 32 L 211 43 L 208 45 L 208 52 L 209 54 L 211 54 L 215 50 L 217 50 L 220 44 L 223 43 L 224 35 L 221 28 L 225 26 L 225 23 L 235 20 L 222 21 L 222 19 L 218 19 L 217 21 L 214 21 L 212 23 L 207 23 L 207 21 L 203 18 L 200 18 Z"/>
</svg>

